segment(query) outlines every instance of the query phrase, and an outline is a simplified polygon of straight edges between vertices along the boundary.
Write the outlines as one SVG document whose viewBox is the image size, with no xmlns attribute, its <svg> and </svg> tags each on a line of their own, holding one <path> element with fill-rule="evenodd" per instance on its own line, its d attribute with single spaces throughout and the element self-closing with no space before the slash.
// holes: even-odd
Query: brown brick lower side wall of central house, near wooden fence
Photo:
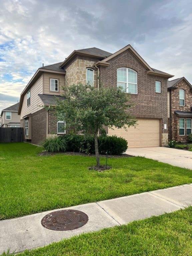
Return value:
<svg viewBox="0 0 192 256">
<path fill-rule="evenodd" d="M 32 144 L 39 145 L 41 141 L 47 138 L 47 111 L 41 109 L 31 115 L 31 140 L 25 138 L 25 119 L 21 119 L 23 127 L 23 140 Z"/>
</svg>

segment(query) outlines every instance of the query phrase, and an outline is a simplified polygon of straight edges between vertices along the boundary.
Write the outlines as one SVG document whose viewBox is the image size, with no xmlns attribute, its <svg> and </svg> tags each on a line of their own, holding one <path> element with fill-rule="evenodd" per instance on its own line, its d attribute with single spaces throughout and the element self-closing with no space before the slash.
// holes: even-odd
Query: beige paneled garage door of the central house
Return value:
<svg viewBox="0 0 192 256">
<path fill-rule="evenodd" d="M 108 129 L 108 135 L 117 135 L 128 141 L 129 148 L 158 147 L 160 146 L 160 134 L 158 119 L 138 119 L 136 127 L 129 127 L 114 130 Z"/>
</svg>

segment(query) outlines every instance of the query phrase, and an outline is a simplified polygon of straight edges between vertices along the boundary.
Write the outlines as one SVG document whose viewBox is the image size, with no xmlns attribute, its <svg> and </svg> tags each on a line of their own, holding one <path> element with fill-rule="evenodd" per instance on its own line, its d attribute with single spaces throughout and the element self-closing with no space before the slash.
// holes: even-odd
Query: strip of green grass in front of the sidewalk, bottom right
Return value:
<svg viewBox="0 0 192 256">
<path fill-rule="evenodd" d="M 191 256 L 192 207 L 75 236 L 43 248 L 17 254 L 17 256 L 63 255 Z"/>
</svg>

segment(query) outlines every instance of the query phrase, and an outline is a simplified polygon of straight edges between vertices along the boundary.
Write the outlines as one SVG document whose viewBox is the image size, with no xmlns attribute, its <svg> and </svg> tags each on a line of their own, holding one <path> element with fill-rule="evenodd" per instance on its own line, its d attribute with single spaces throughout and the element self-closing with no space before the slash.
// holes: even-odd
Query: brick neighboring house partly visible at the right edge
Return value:
<svg viewBox="0 0 192 256">
<path fill-rule="evenodd" d="M 187 142 L 191 133 L 192 85 L 185 77 L 168 81 L 169 140 Z"/>
</svg>

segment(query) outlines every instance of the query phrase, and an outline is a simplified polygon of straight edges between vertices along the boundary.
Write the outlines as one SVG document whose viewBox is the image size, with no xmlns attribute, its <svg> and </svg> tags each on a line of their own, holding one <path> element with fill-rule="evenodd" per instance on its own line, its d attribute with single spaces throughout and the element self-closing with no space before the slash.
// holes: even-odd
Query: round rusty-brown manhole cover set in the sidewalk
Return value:
<svg viewBox="0 0 192 256">
<path fill-rule="evenodd" d="M 77 210 L 61 210 L 47 214 L 41 224 L 53 230 L 72 230 L 80 228 L 88 221 L 88 216 L 84 212 Z"/>
</svg>

